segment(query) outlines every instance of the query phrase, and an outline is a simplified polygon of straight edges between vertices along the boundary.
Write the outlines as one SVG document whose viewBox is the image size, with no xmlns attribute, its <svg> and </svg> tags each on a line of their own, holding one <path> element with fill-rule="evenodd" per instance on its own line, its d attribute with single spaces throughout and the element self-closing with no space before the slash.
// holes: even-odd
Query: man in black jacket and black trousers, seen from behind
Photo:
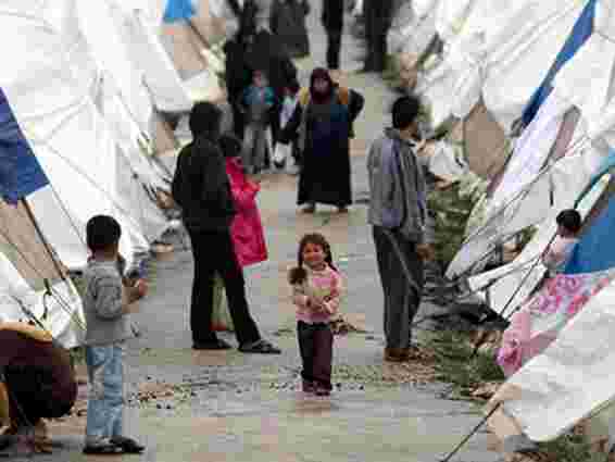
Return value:
<svg viewBox="0 0 615 462">
<path fill-rule="evenodd" d="M 192 348 L 224 350 L 230 346 L 212 330 L 214 275 L 226 290 L 239 351 L 279 353 L 261 334 L 250 315 L 243 271 L 235 253 L 230 226 L 236 205 L 218 146 L 222 113 L 212 103 L 200 102 L 189 118 L 192 142 L 179 152 L 172 184 L 174 200 L 181 208 L 194 257 L 194 280 L 190 308 Z"/>
</svg>

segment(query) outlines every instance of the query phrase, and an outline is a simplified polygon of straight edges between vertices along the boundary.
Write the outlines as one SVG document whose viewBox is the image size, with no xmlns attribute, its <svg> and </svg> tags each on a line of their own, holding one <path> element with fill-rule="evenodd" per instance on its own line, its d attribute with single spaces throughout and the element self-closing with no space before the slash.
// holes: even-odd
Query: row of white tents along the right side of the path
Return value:
<svg viewBox="0 0 615 462">
<path fill-rule="evenodd" d="M 389 47 L 429 108 L 431 171 L 487 185 L 447 276 L 527 324 L 492 428 L 502 441 L 545 441 L 598 414 L 615 435 L 601 412 L 615 399 L 615 1 L 411 0 Z M 568 208 L 583 216 L 580 242 L 541 286 L 540 254 Z M 518 257 L 487 271 L 528 228 Z"/>
</svg>

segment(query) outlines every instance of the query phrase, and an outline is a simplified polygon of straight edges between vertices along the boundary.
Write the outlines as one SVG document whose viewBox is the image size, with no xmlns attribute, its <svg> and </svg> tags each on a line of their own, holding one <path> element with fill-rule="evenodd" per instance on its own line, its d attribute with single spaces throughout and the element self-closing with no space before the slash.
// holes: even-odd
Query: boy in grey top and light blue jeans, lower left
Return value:
<svg viewBox="0 0 615 462">
<path fill-rule="evenodd" d="M 140 453 L 146 448 L 124 436 L 125 341 L 133 336 L 129 304 L 145 286 L 124 287 L 117 271 L 122 228 L 111 216 L 98 215 L 86 226 L 92 258 L 85 272 L 86 364 L 90 384 L 86 454 Z"/>
</svg>

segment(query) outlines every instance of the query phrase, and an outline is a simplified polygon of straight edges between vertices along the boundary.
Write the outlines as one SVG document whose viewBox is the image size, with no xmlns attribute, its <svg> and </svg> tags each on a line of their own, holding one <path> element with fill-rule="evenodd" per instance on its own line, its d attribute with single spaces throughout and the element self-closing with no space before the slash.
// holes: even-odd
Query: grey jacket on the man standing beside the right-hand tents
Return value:
<svg viewBox="0 0 615 462">
<path fill-rule="evenodd" d="M 387 128 L 369 149 L 371 200 L 368 222 L 398 229 L 405 238 L 425 240 L 426 185 L 415 145 Z"/>
</svg>

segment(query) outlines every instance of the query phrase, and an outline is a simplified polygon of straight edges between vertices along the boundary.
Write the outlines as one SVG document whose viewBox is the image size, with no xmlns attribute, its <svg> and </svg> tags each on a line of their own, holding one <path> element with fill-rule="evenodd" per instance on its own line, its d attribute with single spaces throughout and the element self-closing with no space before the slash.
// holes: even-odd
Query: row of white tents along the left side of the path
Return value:
<svg viewBox="0 0 615 462">
<path fill-rule="evenodd" d="M 206 0 L 2 1 L 0 321 L 80 345 L 87 221 L 116 217 L 129 265 L 174 226 L 164 158 L 196 101 L 224 99 L 216 21 Z"/>
</svg>

